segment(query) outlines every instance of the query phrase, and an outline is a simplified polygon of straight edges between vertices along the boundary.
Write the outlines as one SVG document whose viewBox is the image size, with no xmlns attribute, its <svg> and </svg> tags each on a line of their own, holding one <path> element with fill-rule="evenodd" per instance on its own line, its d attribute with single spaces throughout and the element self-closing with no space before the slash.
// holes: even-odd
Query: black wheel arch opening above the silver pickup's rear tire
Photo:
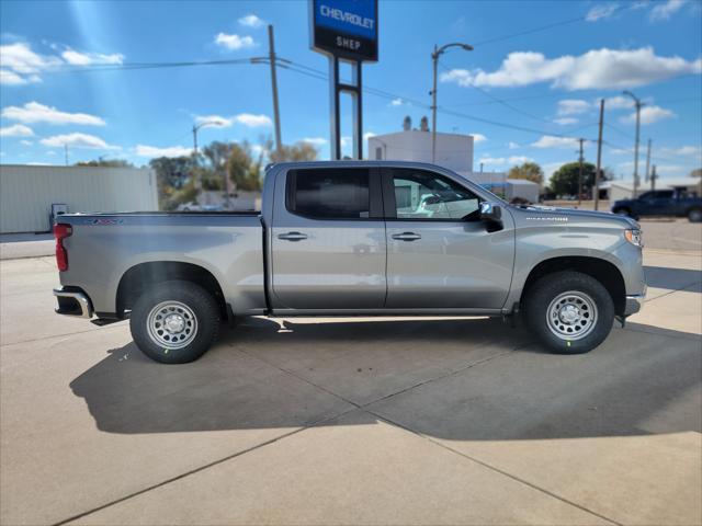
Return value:
<svg viewBox="0 0 702 526">
<path fill-rule="evenodd" d="M 223 319 L 227 319 L 227 302 L 217 278 L 207 268 L 182 261 L 149 261 L 129 267 L 120 278 L 116 295 L 116 313 L 125 317 L 138 297 L 150 286 L 173 279 L 200 285 L 215 298 Z"/>
</svg>

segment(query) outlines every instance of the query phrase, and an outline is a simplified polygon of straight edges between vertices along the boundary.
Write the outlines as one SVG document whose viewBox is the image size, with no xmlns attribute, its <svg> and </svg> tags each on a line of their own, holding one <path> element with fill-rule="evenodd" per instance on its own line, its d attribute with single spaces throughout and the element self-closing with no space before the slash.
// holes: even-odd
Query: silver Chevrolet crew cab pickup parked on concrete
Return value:
<svg viewBox="0 0 702 526">
<path fill-rule="evenodd" d="M 60 216 L 60 315 L 128 318 L 152 359 L 185 363 L 245 316 L 508 317 L 585 353 L 646 291 L 638 225 L 510 206 L 443 168 L 274 164 L 260 214 Z"/>
</svg>

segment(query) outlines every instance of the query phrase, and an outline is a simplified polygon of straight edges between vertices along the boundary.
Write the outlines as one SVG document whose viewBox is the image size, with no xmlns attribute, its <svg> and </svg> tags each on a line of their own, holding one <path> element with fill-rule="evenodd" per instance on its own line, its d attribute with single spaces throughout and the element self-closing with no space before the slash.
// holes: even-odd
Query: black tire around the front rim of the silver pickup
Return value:
<svg viewBox="0 0 702 526">
<path fill-rule="evenodd" d="M 586 298 L 579 307 L 578 313 L 582 317 L 591 316 L 593 309 L 587 307 L 588 300 L 595 305 L 595 322 L 588 325 L 581 338 L 571 339 L 566 334 L 556 334 L 557 328 L 551 325 L 561 324 L 564 330 L 576 331 L 579 325 L 573 328 L 563 321 L 553 322 L 547 319 L 547 312 L 553 301 L 566 293 L 580 293 Z M 582 294 L 584 293 L 584 294 Z M 575 295 L 577 296 L 577 294 Z M 557 306 L 557 304 L 556 304 Z M 576 308 L 577 308 L 576 307 Z M 554 307 L 555 309 L 555 307 Z M 607 339 L 614 322 L 614 302 L 607 288 L 592 276 L 573 271 L 563 271 L 541 277 L 530 289 L 524 305 L 526 322 L 539 340 L 551 351 L 558 354 L 582 354 L 592 351 Z M 552 312 L 553 316 L 553 312 Z M 587 324 L 587 318 L 585 324 Z M 576 334 L 577 335 L 577 334 Z"/>
</svg>

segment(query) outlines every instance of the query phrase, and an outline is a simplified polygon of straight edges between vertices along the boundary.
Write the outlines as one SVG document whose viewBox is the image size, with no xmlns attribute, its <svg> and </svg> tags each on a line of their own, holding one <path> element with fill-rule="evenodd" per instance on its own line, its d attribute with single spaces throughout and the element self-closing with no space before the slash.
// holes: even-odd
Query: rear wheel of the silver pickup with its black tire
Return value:
<svg viewBox="0 0 702 526">
<path fill-rule="evenodd" d="M 162 307 L 159 310 L 157 306 Z M 184 307 L 180 308 L 180 306 Z M 154 317 L 151 317 L 152 311 Z M 173 333 L 161 330 L 165 335 L 156 334 L 159 327 L 165 325 L 159 325 L 157 318 L 160 312 L 166 312 L 167 317 L 171 312 L 176 315 L 177 327 L 185 327 L 184 331 L 181 329 L 179 333 L 172 335 Z M 154 333 L 149 330 L 151 320 L 159 325 L 151 328 Z M 191 320 L 190 325 L 188 320 Z M 186 332 L 189 327 L 192 332 Z M 159 283 L 137 299 L 129 317 L 129 329 L 134 342 L 149 358 L 161 364 L 185 364 L 205 354 L 217 339 L 219 309 L 213 296 L 194 283 L 181 281 Z M 159 342 L 158 338 L 169 340 L 172 338 L 174 343 Z M 177 342 L 179 338 L 184 341 Z M 183 346 L 178 347 L 179 345 Z"/>
</svg>

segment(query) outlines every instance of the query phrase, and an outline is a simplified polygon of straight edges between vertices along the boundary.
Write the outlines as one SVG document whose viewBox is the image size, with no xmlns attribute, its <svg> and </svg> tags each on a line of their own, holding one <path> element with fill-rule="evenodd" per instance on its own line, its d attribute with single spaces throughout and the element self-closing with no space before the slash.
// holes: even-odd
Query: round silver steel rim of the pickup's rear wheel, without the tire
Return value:
<svg viewBox="0 0 702 526">
<path fill-rule="evenodd" d="M 151 309 L 146 320 L 149 336 L 163 348 L 182 348 L 197 334 L 197 318 L 180 301 L 162 301 Z"/>
</svg>

